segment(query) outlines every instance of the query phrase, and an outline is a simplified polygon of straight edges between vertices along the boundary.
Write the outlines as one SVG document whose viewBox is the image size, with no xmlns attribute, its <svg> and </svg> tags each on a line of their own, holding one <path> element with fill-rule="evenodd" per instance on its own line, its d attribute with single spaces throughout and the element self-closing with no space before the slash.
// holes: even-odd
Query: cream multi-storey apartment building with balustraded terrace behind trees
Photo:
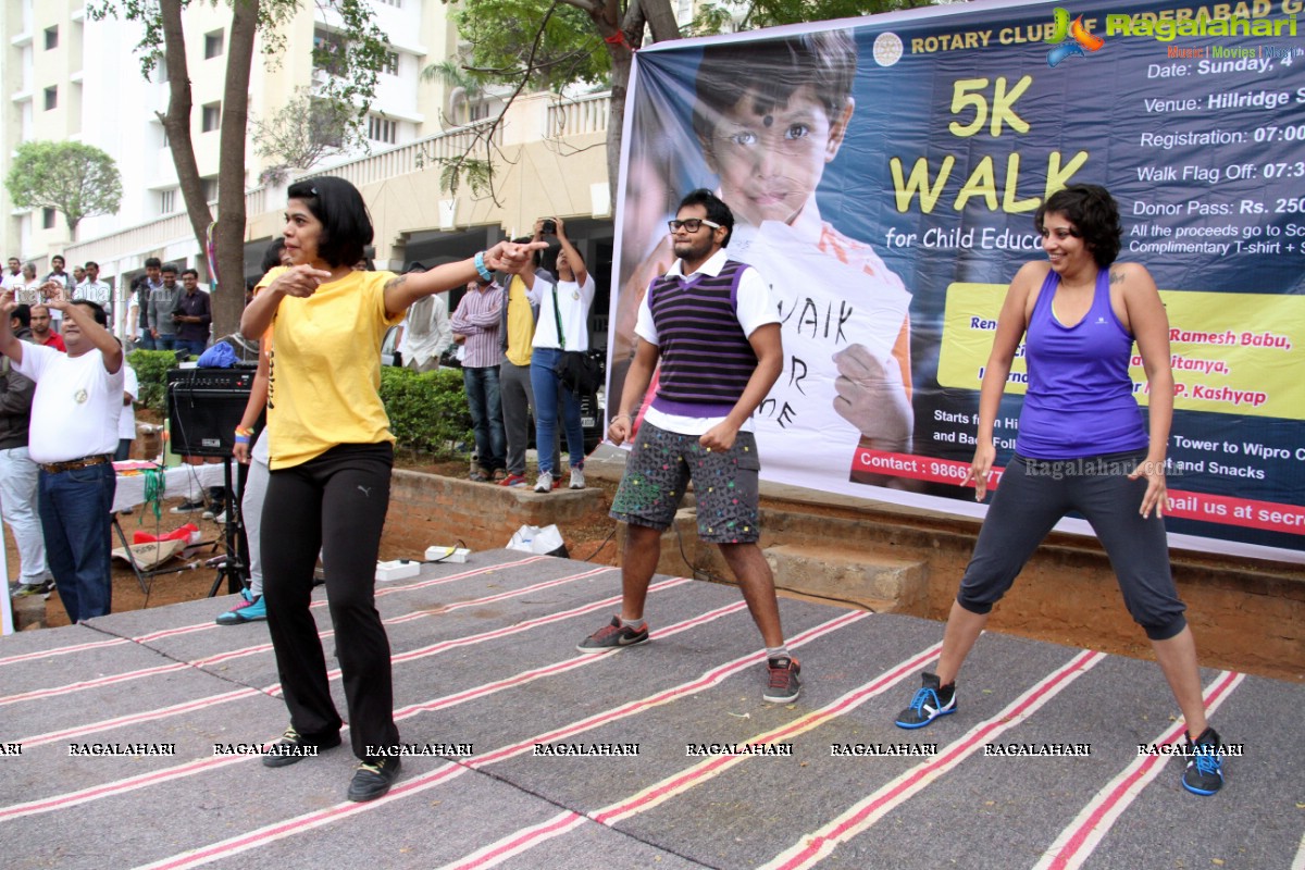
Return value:
<svg viewBox="0 0 1305 870">
<path fill-rule="evenodd" d="M 377 224 L 380 267 L 465 256 L 504 235 L 529 232 L 534 218 L 545 214 L 570 219 L 576 235 L 591 248 L 585 253 L 595 266 L 609 261 L 611 202 L 603 157 L 607 95 L 564 102 L 529 97 L 495 125 L 501 100 L 467 100 L 444 81 L 420 76 L 427 65 L 457 52 L 457 33 L 444 3 L 373 0 L 373 10 L 389 35 L 392 61 L 368 113 L 365 149 L 268 187 L 260 179 L 271 160 L 256 153 L 251 125 L 244 179 L 251 267 L 281 231 L 286 183 L 321 172 L 343 175 L 363 190 Z M 184 17 L 192 137 L 200 173 L 214 198 L 230 14 L 226 4 L 192 4 Z M 8 172 L 20 142 L 73 140 L 112 155 L 123 177 L 117 214 L 84 219 L 76 240 L 69 239 L 61 214 L 16 210 L 8 192 L 0 190 L 4 254 L 20 253 L 40 267 L 54 253 L 65 253 L 70 263 L 95 260 L 104 278 L 119 287 L 150 256 L 205 273 L 159 120 L 168 104 L 166 70 L 158 67 L 149 77 L 142 74 L 134 52 L 141 26 L 112 17 L 94 20 L 85 0 L 3 0 L 0 26 L 0 81 L 10 83 L 0 119 L 0 171 Z M 329 72 L 315 69 L 313 47 L 338 40 L 339 29 L 331 10 L 303 4 L 283 29 L 284 42 L 275 55 L 256 55 L 252 117 L 270 117 L 296 89 L 312 86 L 315 77 Z M 478 147 L 489 127 L 495 127 L 495 190 L 462 185 L 450 193 L 440 184 L 440 159 Z"/>
</svg>

